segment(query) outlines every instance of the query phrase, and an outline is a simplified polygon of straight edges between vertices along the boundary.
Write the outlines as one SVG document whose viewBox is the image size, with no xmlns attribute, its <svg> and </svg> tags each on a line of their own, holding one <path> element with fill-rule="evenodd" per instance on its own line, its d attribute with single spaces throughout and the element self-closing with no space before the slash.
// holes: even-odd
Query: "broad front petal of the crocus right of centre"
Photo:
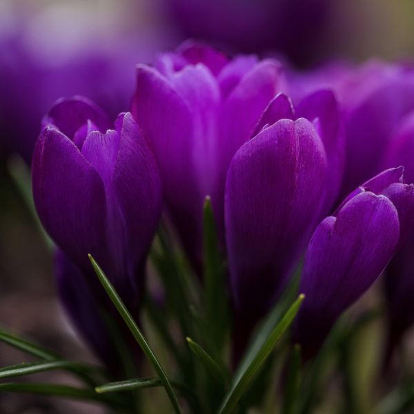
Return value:
<svg viewBox="0 0 414 414">
<path fill-rule="evenodd" d="M 240 148 L 226 181 L 226 242 L 239 311 L 273 303 L 320 214 L 326 154 L 312 124 L 281 120 Z"/>
</svg>

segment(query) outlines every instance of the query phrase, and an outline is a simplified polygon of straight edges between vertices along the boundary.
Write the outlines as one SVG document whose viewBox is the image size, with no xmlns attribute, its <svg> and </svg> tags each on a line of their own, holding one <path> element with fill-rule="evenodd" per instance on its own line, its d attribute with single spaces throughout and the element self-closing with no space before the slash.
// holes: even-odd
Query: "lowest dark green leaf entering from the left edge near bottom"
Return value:
<svg viewBox="0 0 414 414">
<path fill-rule="evenodd" d="M 85 388 L 77 388 L 74 386 L 60 385 L 60 384 L 40 384 L 40 383 L 12 383 L 6 382 L 0 384 L 0 392 L 9 391 L 12 393 L 30 393 L 48 395 L 50 397 L 65 397 L 75 400 L 85 400 L 90 402 L 101 402 L 111 406 L 119 406 L 128 408 L 121 400 L 114 400 L 108 398 L 106 395 L 99 395 L 94 391 Z"/>
</svg>

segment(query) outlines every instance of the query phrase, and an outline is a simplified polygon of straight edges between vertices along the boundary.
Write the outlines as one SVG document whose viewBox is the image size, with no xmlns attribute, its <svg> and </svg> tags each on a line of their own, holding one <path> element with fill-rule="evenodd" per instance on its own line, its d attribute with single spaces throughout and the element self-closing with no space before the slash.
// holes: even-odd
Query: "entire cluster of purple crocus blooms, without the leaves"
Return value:
<svg viewBox="0 0 414 414">
<path fill-rule="evenodd" d="M 239 351 L 301 257 L 306 299 L 293 338 L 308 357 L 395 253 L 391 310 L 411 309 L 412 70 L 338 66 L 322 78 L 293 81 L 273 59 L 184 43 L 137 66 L 131 113 L 113 126 L 86 99 L 53 106 L 34 151 L 34 201 L 61 250 L 63 304 L 95 348 L 104 304 L 88 253 L 138 312 L 161 199 L 201 277 L 210 196 Z"/>
</svg>

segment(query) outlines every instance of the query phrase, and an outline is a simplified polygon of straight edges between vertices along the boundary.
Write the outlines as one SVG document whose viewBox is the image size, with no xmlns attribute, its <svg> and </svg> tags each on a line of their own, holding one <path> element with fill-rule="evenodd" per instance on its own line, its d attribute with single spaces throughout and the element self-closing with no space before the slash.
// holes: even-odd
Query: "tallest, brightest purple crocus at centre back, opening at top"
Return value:
<svg viewBox="0 0 414 414">
<path fill-rule="evenodd" d="M 132 113 L 155 152 L 166 206 L 193 262 L 201 261 L 204 198 L 210 195 L 224 235 L 228 164 L 281 88 L 277 61 L 231 60 L 193 43 L 154 67 L 138 66 Z"/>
</svg>

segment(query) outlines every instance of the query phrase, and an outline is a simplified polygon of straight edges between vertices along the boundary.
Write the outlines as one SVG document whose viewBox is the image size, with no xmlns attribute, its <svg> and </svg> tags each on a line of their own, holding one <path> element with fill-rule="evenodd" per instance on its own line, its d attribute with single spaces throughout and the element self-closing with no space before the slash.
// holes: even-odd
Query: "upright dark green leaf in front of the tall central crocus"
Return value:
<svg viewBox="0 0 414 414">
<path fill-rule="evenodd" d="M 229 312 L 226 273 L 210 197 L 204 201 L 203 246 L 206 326 L 216 348 L 210 351 L 214 351 L 213 355 L 219 355 L 226 340 Z"/>
</svg>

